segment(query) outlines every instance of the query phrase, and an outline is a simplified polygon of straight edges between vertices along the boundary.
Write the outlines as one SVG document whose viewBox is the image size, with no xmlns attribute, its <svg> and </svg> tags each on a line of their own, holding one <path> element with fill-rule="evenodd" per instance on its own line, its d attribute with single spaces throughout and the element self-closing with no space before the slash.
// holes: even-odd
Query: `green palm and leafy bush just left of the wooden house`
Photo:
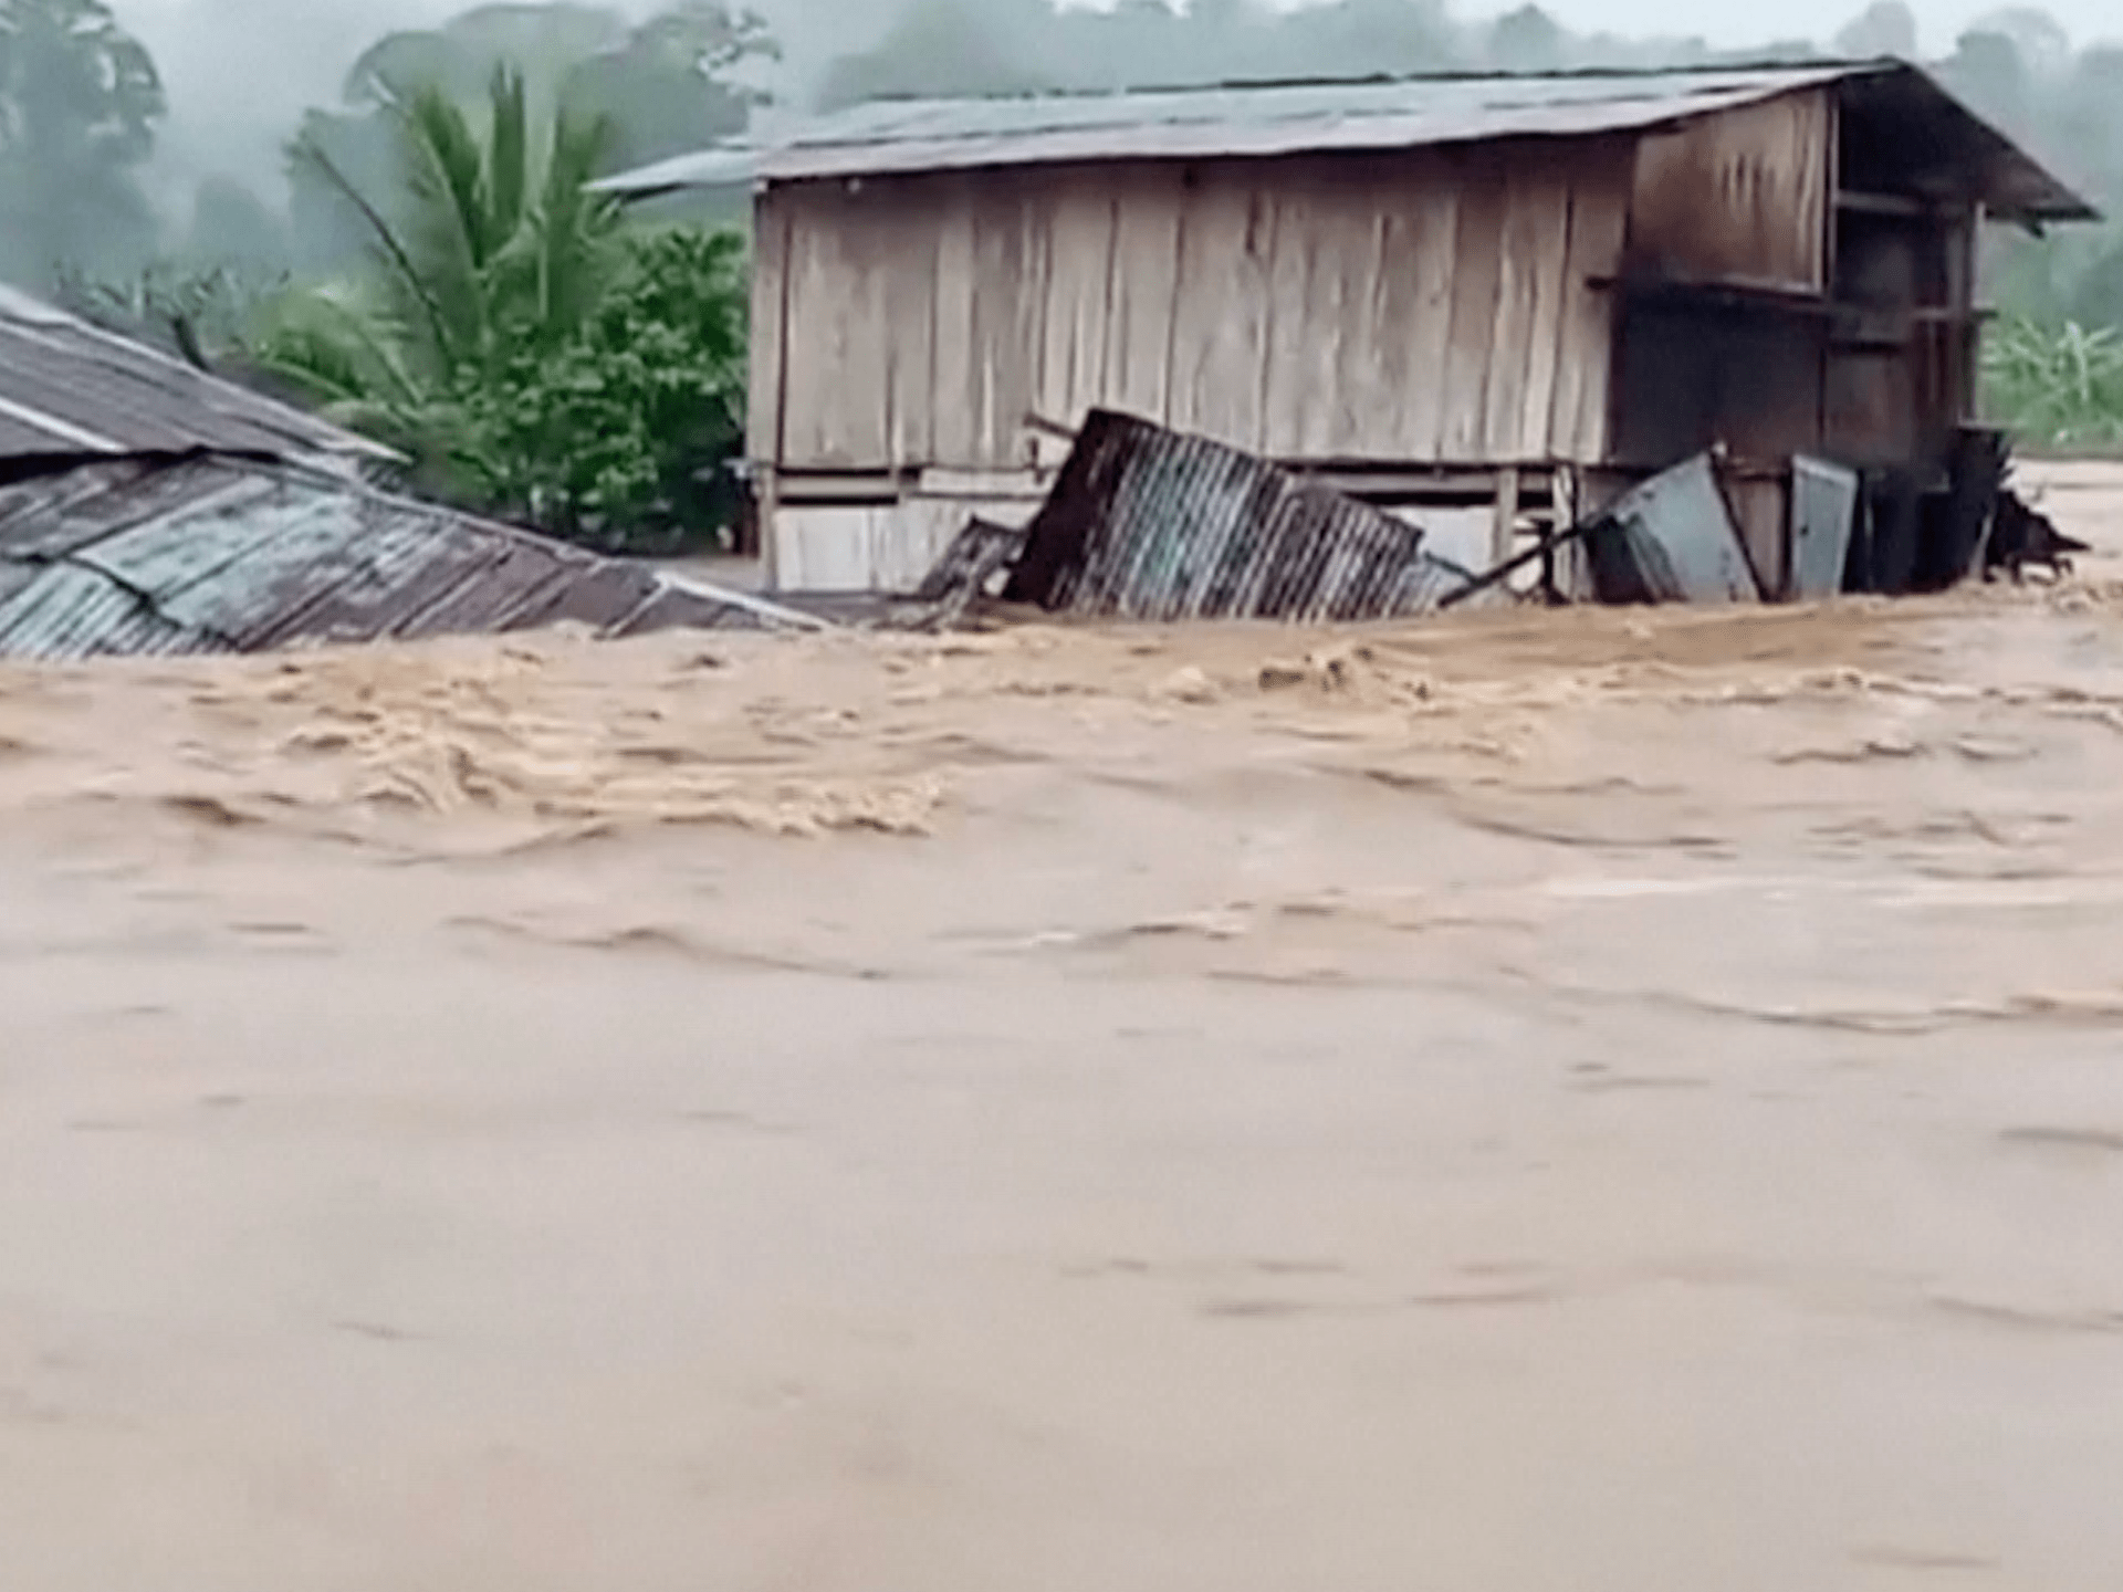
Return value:
<svg viewBox="0 0 2123 1592">
<path fill-rule="evenodd" d="M 412 458 L 439 497 L 586 541 L 677 546 L 726 518 L 743 391 L 743 246 L 626 231 L 590 191 L 611 123 L 543 136 L 499 68 L 486 123 L 442 87 L 391 106 L 395 202 L 304 146 L 372 270 L 272 306 L 248 357 Z"/>
</svg>

